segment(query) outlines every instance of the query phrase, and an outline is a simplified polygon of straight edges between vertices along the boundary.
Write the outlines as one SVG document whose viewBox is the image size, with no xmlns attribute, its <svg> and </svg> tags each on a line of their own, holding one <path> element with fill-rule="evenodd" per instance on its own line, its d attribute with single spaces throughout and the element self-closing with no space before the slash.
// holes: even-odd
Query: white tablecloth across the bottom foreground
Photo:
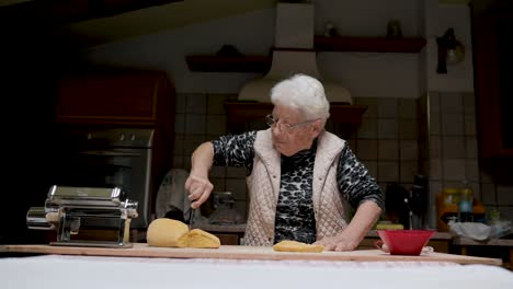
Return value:
<svg viewBox="0 0 513 289">
<path fill-rule="evenodd" d="M 0 258 L 2 289 L 513 288 L 490 265 L 433 262 L 174 259 L 45 255 Z"/>
</svg>

